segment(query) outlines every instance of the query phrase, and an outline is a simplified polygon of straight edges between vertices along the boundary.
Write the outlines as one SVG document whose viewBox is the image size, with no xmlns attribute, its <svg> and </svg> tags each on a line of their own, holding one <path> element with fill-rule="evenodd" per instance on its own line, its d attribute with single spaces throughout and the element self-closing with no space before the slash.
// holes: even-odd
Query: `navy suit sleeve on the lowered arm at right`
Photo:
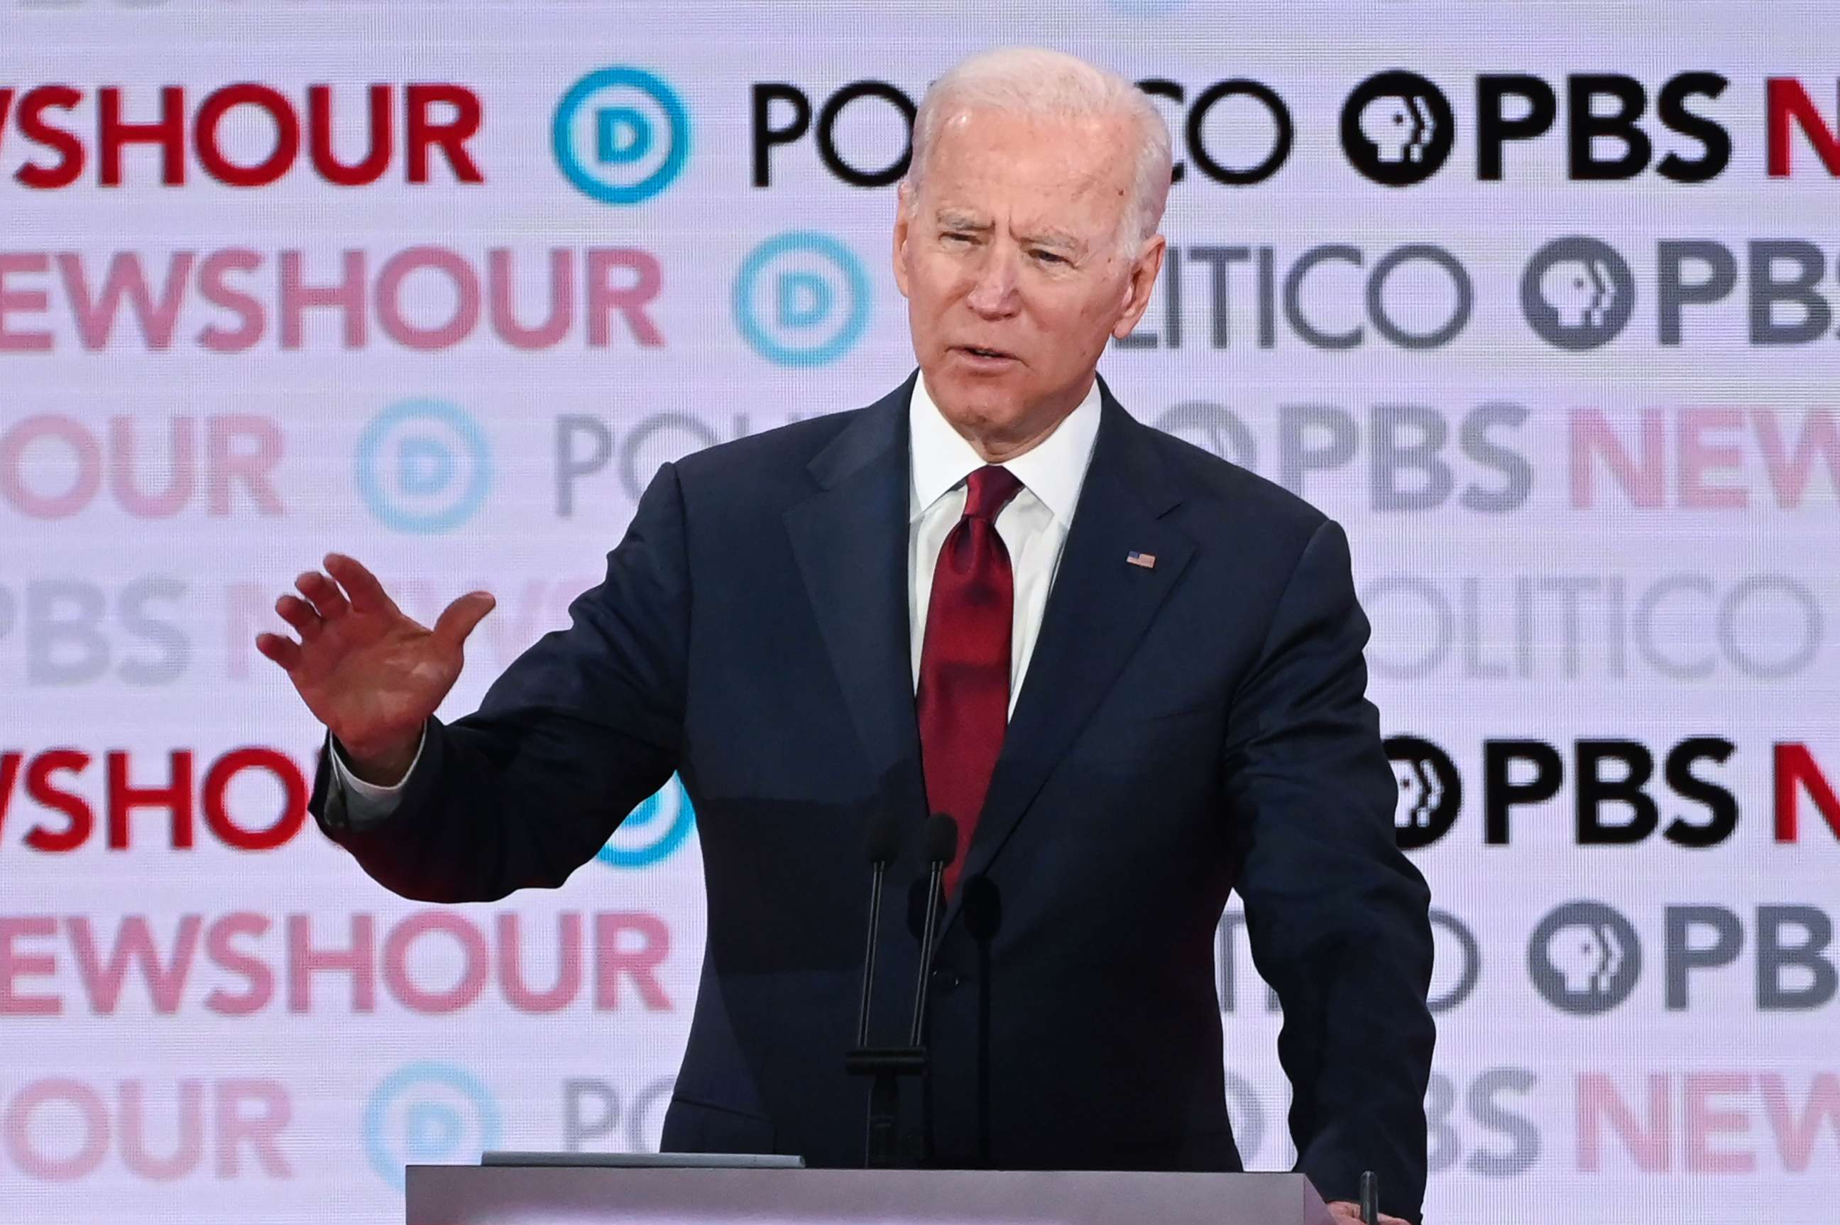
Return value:
<svg viewBox="0 0 1840 1225">
<path fill-rule="evenodd" d="M 1417 1221 L 1433 1023 L 1430 890 L 1398 850 L 1398 787 L 1365 697 L 1349 544 L 1305 546 L 1233 699 L 1227 793 L 1253 964 L 1279 995 L 1297 1168 L 1325 1199 Z"/>
</svg>

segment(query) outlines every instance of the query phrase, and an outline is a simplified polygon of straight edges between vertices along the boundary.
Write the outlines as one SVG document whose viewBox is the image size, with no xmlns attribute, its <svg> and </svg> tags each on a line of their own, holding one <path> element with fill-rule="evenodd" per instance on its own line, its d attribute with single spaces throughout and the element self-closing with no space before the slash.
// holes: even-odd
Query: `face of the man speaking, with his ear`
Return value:
<svg viewBox="0 0 1840 1225">
<path fill-rule="evenodd" d="M 1130 142 L 1122 120 L 970 110 L 942 125 L 918 208 L 896 210 L 894 281 L 927 392 L 960 434 L 1027 449 L 1143 316 L 1163 239 L 1121 243 Z"/>
</svg>

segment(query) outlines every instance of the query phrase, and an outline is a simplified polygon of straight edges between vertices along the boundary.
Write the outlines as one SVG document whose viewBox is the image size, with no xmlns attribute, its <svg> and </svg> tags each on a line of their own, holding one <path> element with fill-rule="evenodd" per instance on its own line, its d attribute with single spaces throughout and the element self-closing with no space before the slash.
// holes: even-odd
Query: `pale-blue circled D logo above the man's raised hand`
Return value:
<svg viewBox="0 0 1840 1225">
<path fill-rule="evenodd" d="M 478 423 L 445 399 L 403 399 L 357 440 L 357 491 L 397 532 L 451 532 L 491 487 L 491 449 Z"/>
</svg>

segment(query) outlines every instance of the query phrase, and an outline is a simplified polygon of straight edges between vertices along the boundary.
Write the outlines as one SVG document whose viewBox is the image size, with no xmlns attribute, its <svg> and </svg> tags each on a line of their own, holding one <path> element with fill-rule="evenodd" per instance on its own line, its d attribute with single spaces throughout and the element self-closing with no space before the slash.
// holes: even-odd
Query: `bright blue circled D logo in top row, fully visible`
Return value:
<svg viewBox="0 0 1840 1225">
<path fill-rule="evenodd" d="M 602 204 L 638 204 L 683 173 L 690 112 L 650 72 L 602 68 L 556 103 L 550 147 L 563 177 L 583 195 Z"/>
</svg>

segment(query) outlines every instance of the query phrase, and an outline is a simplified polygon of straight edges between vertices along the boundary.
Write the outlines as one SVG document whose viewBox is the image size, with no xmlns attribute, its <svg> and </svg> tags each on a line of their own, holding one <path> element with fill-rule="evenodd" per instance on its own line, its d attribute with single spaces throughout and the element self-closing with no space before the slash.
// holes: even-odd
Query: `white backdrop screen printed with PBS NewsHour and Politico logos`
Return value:
<svg viewBox="0 0 1840 1225">
<path fill-rule="evenodd" d="M 423 624 L 484 587 L 458 717 L 662 462 L 896 386 L 913 105 L 1012 42 L 1174 132 L 1121 401 L 1349 530 L 1426 1216 L 1833 1212 L 1831 7 L 0 0 L 0 1219 L 383 1223 L 405 1162 L 657 1144 L 681 787 L 565 888 L 405 901 L 252 640 L 335 548 Z M 1236 905 L 1218 979 L 1288 1168 Z"/>
</svg>

